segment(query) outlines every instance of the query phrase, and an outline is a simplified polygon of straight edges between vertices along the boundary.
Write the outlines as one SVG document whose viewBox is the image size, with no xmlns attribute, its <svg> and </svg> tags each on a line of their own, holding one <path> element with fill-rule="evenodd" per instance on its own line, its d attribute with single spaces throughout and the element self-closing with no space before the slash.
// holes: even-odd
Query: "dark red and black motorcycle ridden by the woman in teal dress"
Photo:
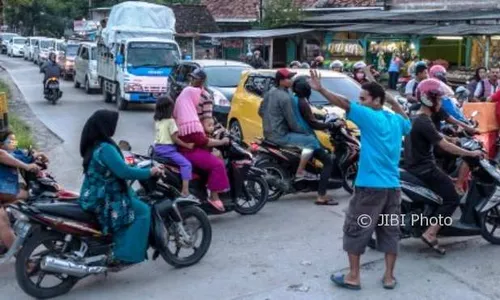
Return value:
<svg viewBox="0 0 500 300">
<path fill-rule="evenodd" d="M 199 203 L 171 200 L 161 189 L 140 199 L 151 207 L 152 259 L 161 255 L 176 268 L 199 262 L 212 239 L 210 222 Z M 89 275 L 118 272 L 130 266 L 111 262 L 112 236 L 103 234 L 96 217 L 77 203 L 17 202 L 9 209 L 17 219 L 12 246 L 20 249 L 15 263 L 16 279 L 21 289 L 34 298 L 57 297 Z M 37 252 L 39 248 L 46 249 Z M 189 254 L 181 257 L 181 250 Z M 54 277 L 48 280 L 52 286 L 42 285 L 47 277 Z"/>
</svg>

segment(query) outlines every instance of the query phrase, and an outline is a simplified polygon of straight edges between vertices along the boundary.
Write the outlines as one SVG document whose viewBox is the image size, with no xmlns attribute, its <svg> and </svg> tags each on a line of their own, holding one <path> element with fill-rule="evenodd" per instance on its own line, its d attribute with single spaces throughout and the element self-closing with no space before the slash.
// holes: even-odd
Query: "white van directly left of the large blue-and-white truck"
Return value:
<svg viewBox="0 0 500 300">
<path fill-rule="evenodd" d="M 97 44 L 82 43 L 75 59 L 75 88 L 85 87 L 85 92 L 91 94 L 101 90 L 97 76 Z"/>
</svg>

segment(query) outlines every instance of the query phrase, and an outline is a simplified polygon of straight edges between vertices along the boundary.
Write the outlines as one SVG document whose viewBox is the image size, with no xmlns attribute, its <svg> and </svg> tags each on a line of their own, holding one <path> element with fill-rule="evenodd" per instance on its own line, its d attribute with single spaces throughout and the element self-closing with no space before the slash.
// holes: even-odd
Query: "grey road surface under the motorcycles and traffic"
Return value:
<svg viewBox="0 0 500 300">
<path fill-rule="evenodd" d="M 63 82 L 57 106 L 42 100 L 41 74 L 22 59 L 0 56 L 34 113 L 64 143 L 50 153 L 52 168 L 64 185 L 77 189 L 81 128 L 96 109 L 115 109 L 101 95 L 86 95 Z M 117 139 L 145 151 L 153 138 L 152 107 L 120 112 Z M 500 249 L 479 237 L 445 239 L 448 254 L 438 257 L 418 240 L 402 242 L 394 291 L 383 290 L 383 255 L 367 250 L 361 291 L 332 286 L 329 276 L 344 271 L 342 224 L 348 195 L 333 192 L 338 207 L 312 205 L 314 195 L 269 203 L 255 216 L 235 213 L 211 217 L 212 246 L 197 265 L 176 270 L 161 259 L 118 274 L 81 281 L 60 299 L 500 299 Z M 15 281 L 13 263 L 0 266 L 0 299 L 28 299 Z"/>
</svg>

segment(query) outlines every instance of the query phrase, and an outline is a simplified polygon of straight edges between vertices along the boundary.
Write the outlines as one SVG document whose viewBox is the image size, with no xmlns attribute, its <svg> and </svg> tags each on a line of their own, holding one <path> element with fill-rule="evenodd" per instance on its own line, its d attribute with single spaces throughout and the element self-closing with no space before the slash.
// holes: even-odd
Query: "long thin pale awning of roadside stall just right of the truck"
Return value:
<svg viewBox="0 0 500 300">
<path fill-rule="evenodd" d="M 234 31 L 234 32 L 216 32 L 216 33 L 201 33 L 200 36 L 207 36 L 211 38 L 218 39 L 228 39 L 228 38 L 275 38 L 291 36 L 306 32 L 314 31 L 315 29 L 309 28 L 280 28 L 280 29 L 266 29 L 266 30 L 245 30 L 245 31 Z"/>
</svg>

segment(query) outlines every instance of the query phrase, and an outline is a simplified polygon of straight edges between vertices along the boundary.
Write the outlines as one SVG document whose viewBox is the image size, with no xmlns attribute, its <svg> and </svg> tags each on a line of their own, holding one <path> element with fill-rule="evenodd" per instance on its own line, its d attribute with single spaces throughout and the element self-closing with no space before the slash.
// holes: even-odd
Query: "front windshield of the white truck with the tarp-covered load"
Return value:
<svg viewBox="0 0 500 300">
<path fill-rule="evenodd" d="M 131 42 L 127 64 L 131 67 L 173 67 L 179 61 L 179 50 L 173 43 Z"/>
</svg>

